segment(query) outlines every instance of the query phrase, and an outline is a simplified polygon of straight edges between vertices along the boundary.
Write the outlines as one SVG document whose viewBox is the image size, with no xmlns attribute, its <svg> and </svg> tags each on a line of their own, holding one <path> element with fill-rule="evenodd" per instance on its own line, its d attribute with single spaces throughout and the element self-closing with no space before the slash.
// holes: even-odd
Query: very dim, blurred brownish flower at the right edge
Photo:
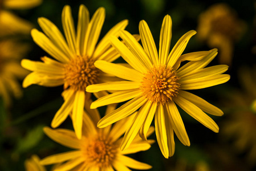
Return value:
<svg viewBox="0 0 256 171">
<path fill-rule="evenodd" d="M 246 153 L 247 161 L 256 164 L 256 67 L 239 70 L 239 83 L 243 89 L 230 92 L 226 100 L 227 119 L 222 123 L 222 137 L 233 140 L 237 152 Z"/>
</svg>

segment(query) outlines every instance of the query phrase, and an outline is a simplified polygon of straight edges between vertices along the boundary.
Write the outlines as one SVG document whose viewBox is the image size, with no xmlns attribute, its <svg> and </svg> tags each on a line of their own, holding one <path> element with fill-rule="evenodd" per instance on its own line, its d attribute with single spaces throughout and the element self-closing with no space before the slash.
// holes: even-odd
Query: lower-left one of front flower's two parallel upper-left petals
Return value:
<svg viewBox="0 0 256 171">
<path fill-rule="evenodd" d="M 119 39 L 117 39 L 115 36 L 111 36 L 111 44 L 113 47 L 116 48 L 116 50 L 119 52 L 119 54 L 122 56 L 122 58 L 130 64 L 135 70 L 146 73 L 147 67 L 144 66 L 143 62 L 138 59 L 131 50 L 127 46 L 124 45 Z"/>
</svg>

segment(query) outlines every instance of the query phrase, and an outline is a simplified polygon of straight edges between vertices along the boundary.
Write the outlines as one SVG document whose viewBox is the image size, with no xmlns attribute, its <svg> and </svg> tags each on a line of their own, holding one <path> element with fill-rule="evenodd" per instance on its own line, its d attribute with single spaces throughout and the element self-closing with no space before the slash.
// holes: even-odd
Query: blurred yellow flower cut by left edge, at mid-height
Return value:
<svg viewBox="0 0 256 171">
<path fill-rule="evenodd" d="M 11 104 L 11 96 L 22 96 L 18 79 L 23 79 L 27 74 L 21 67 L 20 60 L 29 50 L 28 44 L 18 42 L 16 39 L 3 39 L 0 41 L 0 96 L 6 107 Z"/>
</svg>

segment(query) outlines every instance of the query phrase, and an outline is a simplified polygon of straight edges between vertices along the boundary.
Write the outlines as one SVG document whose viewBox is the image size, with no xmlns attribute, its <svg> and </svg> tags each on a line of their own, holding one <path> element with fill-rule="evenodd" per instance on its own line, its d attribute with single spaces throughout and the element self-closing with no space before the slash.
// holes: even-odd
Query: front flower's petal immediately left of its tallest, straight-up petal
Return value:
<svg viewBox="0 0 256 171">
<path fill-rule="evenodd" d="M 153 64 L 159 64 L 159 55 L 157 54 L 156 44 L 149 30 L 148 24 L 143 20 L 140 21 L 139 31 L 141 36 L 141 43 L 143 44 L 145 52 L 147 52 Z"/>
</svg>

